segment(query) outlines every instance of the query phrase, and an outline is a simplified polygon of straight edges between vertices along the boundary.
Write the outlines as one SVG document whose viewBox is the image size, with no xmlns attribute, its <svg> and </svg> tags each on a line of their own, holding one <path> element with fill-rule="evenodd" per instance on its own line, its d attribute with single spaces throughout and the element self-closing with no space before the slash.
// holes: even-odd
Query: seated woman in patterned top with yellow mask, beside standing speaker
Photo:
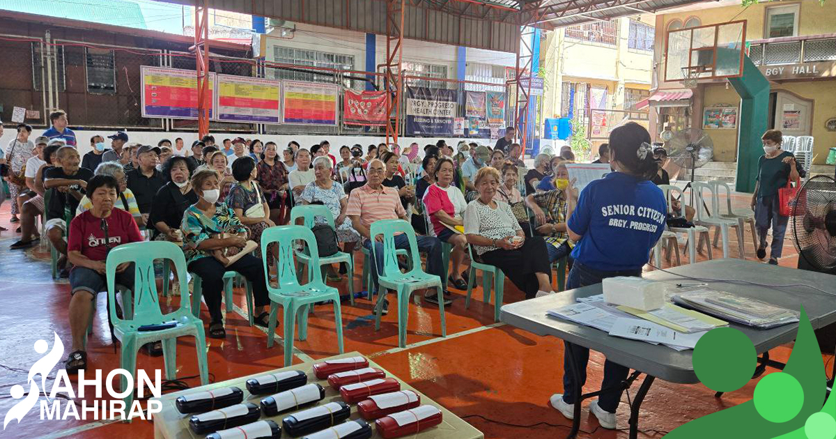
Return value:
<svg viewBox="0 0 836 439">
<path fill-rule="evenodd" d="M 559 159 L 559 157 L 555 157 Z M 568 161 L 553 161 L 553 186 L 551 190 L 538 191 L 526 197 L 526 204 L 537 220 L 538 234 L 543 235 L 548 249 L 549 262 L 557 262 L 572 252 L 566 232 L 566 189 L 569 186 Z"/>
</svg>

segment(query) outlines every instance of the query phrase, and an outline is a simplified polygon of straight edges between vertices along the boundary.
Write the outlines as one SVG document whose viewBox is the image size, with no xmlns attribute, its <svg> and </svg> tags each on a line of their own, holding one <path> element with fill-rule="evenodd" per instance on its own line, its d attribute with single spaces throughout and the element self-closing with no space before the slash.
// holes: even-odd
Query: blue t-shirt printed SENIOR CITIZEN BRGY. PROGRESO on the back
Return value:
<svg viewBox="0 0 836 439">
<path fill-rule="evenodd" d="M 635 270 L 665 230 L 665 195 L 650 181 L 610 172 L 584 187 L 568 228 L 582 235 L 572 258 L 602 271 Z"/>
</svg>

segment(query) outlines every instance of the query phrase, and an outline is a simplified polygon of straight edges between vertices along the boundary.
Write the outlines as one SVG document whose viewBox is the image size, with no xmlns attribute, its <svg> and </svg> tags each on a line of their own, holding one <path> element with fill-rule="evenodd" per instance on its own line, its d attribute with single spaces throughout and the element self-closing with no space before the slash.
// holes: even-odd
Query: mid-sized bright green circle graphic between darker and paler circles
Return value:
<svg viewBox="0 0 836 439">
<path fill-rule="evenodd" d="M 804 390 L 793 375 L 775 372 L 764 376 L 752 395 L 755 410 L 771 422 L 792 420 L 804 405 Z"/>
</svg>

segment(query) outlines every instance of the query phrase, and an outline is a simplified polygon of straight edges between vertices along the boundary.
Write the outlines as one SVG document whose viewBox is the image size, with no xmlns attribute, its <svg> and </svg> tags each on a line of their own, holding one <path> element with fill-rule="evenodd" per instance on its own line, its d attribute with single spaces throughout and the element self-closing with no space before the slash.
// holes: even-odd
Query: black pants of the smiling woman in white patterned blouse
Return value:
<svg viewBox="0 0 836 439">
<path fill-rule="evenodd" d="M 502 268 L 507 278 L 525 293 L 526 299 L 533 299 L 540 289 L 535 273 L 551 272 L 543 237 L 527 237 L 523 242 L 523 247 L 516 250 L 499 248 L 484 253 L 482 261 Z"/>
</svg>

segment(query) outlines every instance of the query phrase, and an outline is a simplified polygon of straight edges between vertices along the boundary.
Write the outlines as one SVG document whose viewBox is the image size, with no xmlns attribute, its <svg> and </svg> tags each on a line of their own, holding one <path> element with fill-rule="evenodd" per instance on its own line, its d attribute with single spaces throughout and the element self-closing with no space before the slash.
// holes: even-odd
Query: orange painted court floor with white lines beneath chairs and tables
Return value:
<svg viewBox="0 0 836 439">
<path fill-rule="evenodd" d="M 733 197 L 736 207 L 747 206 L 748 196 Z M 48 268 L 48 253 L 43 248 L 13 251 L 8 246 L 17 240 L 10 224 L 9 205 L 0 210 L 0 225 L 9 232 L 0 233 L 0 414 L 15 404 L 9 396 L 12 385 L 23 384 L 28 370 L 38 355 L 33 350 L 37 339 L 53 339 L 55 331 L 69 349 L 69 284 L 54 282 Z M 751 233 L 747 232 L 746 253 L 754 259 Z M 737 242 L 732 237 L 733 252 Z M 714 249 L 715 254 L 721 250 Z M 686 251 L 681 248 L 683 263 Z M 795 266 L 798 260 L 792 242 L 787 239 L 781 264 Z M 706 257 L 701 256 L 701 260 Z M 356 268 L 360 272 L 362 260 Z M 664 264 L 667 267 L 667 263 Z M 354 277 L 360 288 L 359 275 Z M 334 283 L 345 291 L 346 283 Z M 523 294 L 512 283 L 506 283 L 506 303 L 523 299 Z M 397 347 L 397 315 L 385 316 L 380 331 L 374 330 L 371 304 L 358 299 L 354 306 L 343 304 L 344 347 L 357 350 L 375 359 L 393 374 L 415 386 L 427 396 L 440 402 L 485 433 L 486 437 L 553 438 L 568 432 L 569 421 L 548 407 L 548 397 L 562 391 L 563 343 L 559 339 L 539 337 L 505 324 L 493 322 L 493 306 L 482 302 L 482 291 L 474 293 L 469 309 L 464 306 L 464 293 L 454 290 L 456 299 L 446 310 L 447 338 L 441 339 L 440 321 L 436 306 L 410 303 L 408 345 Z M 213 381 L 273 370 L 283 365 L 281 345 L 266 347 L 263 330 L 250 327 L 244 317 L 242 292 L 236 290 L 236 309 L 227 313 L 227 339 L 206 339 L 209 344 L 209 371 Z M 166 307 L 177 305 L 177 299 L 163 299 Z M 89 370 L 101 369 L 103 374 L 119 365 L 118 350 L 110 339 L 106 322 L 105 299 L 99 294 L 94 334 L 90 335 Z M 206 307 L 202 316 L 207 318 Z M 279 334 L 280 335 L 280 334 Z M 297 355 L 293 362 L 335 355 L 334 314 L 329 306 L 319 306 L 309 320 L 308 339 L 294 343 Z M 772 351 L 772 358 L 786 360 L 789 346 Z M 181 339 L 177 346 L 177 375 L 197 374 L 194 344 Z M 589 365 L 588 391 L 599 385 L 604 358 L 593 354 Z M 161 369 L 162 357 L 138 355 L 137 367 Z M 772 371 L 772 370 L 768 370 Z M 54 376 L 54 375 L 53 375 Z M 197 379 L 187 379 L 189 385 L 199 385 Z M 757 381 L 739 391 L 715 399 L 714 392 L 703 385 L 672 385 L 656 381 L 642 406 L 641 436 L 661 436 L 686 421 L 713 411 L 733 406 L 752 398 Z M 634 385 L 631 395 L 638 389 Z M 87 398 L 92 399 L 92 398 Z M 594 416 L 584 410 L 580 437 L 627 437 L 628 395 L 619 408 L 619 430 L 601 429 Z M 23 418 L 20 425 L 11 421 L 3 431 L 3 438 L 34 437 L 102 437 L 115 436 L 150 438 L 150 421 L 130 424 L 108 421 L 40 421 L 36 406 Z"/>
</svg>

